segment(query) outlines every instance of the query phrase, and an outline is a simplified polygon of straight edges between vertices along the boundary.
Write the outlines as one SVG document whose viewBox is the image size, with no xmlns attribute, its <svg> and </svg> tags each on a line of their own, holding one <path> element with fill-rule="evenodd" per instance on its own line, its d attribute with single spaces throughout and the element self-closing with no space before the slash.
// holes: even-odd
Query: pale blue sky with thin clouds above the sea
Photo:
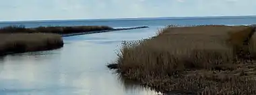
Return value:
<svg viewBox="0 0 256 95">
<path fill-rule="evenodd" d="M 1 0 L 0 21 L 256 15 L 255 0 Z"/>
</svg>

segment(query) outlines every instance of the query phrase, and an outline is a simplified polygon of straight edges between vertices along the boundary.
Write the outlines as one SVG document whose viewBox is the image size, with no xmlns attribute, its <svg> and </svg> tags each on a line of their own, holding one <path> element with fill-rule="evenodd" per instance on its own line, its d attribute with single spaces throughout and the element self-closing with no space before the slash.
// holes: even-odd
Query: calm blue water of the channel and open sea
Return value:
<svg viewBox="0 0 256 95">
<path fill-rule="evenodd" d="M 7 25 L 37 27 L 47 25 L 109 25 L 150 28 L 113 31 L 64 37 L 65 45 L 59 50 L 13 54 L 0 59 L 0 94 L 2 95 L 148 95 L 156 92 L 125 84 L 106 68 L 114 62 L 121 41 L 137 40 L 155 35 L 159 27 L 168 24 L 226 24 L 255 23 L 255 18 L 240 19 L 175 19 L 130 21 L 53 21 L 12 22 Z"/>
</svg>

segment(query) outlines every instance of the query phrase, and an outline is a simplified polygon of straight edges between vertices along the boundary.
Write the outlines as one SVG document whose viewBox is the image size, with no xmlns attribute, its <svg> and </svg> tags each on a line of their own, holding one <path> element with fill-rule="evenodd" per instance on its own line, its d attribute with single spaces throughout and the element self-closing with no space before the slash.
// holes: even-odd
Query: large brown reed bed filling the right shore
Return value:
<svg viewBox="0 0 256 95">
<path fill-rule="evenodd" d="M 248 26 L 166 27 L 156 37 L 124 41 L 115 68 L 164 93 L 256 94 L 256 35 Z"/>
</svg>

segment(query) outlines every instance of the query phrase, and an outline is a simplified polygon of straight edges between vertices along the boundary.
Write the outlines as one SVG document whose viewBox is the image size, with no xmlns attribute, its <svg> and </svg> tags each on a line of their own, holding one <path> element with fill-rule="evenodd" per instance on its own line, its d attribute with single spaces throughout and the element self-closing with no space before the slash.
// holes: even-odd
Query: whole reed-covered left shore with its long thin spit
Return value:
<svg viewBox="0 0 256 95">
<path fill-rule="evenodd" d="M 24 52 L 55 50 L 63 47 L 63 38 L 73 35 L 102 33 L 139 29 L 143 27 L 129 27 L 114 29 L 108 26 L 64 26 L 64 27 L 33 27 L 8 26 L 0 29 L 0 56 Z"/>
</svg>

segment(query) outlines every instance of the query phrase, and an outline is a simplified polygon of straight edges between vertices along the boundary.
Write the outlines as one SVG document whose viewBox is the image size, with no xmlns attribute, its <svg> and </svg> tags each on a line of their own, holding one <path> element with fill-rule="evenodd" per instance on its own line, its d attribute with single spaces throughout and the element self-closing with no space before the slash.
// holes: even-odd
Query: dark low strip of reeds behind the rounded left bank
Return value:
<svg viewBox="0 0 256 95">
<path fill-rule="evenodd" d="M 2 27 L 0 33 L 80 33 L 88 31 L 100 31 L 106 29 L 113 29 L 108 26 L 72 26 L 72 27 L 34 27 L 25 28 L 24 26 L 8 26 Z"/>
</svg>

